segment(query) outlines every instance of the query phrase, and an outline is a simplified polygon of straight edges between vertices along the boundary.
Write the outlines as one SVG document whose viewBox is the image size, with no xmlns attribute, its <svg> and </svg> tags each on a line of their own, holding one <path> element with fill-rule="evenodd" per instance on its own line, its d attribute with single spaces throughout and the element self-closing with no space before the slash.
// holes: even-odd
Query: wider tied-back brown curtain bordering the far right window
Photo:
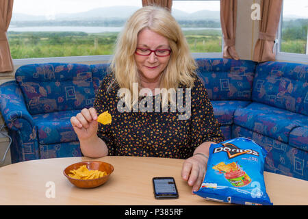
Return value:
<svg viewBox="0 0 308 219">
<path fill-rule="evenodd" d="M 295 3 L 295 2 L 294 2 Z M 255 44 L 253 61 L 274 61 L 273 51 L 276 31 L 279 25 L 282 0 L 261 1 L 261 21 L 259 22 L 259 38 Z"/>
</svg>

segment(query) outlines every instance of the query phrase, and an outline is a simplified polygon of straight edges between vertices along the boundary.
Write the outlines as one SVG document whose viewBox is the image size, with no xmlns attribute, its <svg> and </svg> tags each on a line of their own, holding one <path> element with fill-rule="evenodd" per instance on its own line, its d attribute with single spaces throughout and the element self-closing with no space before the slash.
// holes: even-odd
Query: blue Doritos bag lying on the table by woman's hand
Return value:
<svg viewBox="0 0 308 219">
<path fill-rule="evenodd" d="M 225 203 L 272 205 L 263 175 L 266 154 L 248 138 L 211 144 L 205 179 L 194 194 Z"/>
</svg>

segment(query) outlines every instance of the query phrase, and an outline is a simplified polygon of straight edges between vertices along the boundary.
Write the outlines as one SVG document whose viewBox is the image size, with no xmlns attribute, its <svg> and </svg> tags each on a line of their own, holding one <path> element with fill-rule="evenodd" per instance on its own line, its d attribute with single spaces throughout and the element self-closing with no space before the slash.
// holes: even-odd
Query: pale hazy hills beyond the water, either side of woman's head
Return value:
<svg viewBox="0 0 308 219">
<path fill-rule="evenodd" d="M 94 20 L 94 19 L 105 19 L 105 18 L 118 18 L 126 19 L 136 12 L 138 7 L 135 6 L 112 6 L 106 8 L 96 8 L 94 10 L 89 10 L 88 12 L 80 12 L 73 14 L 54 14 L 47 16 L 34 16 L 29 14 L 18 14 L 13 13 L 12 22 L 14 21 L 80 21 L 80 20 Z M 219 20 L 220 12 L 201 10 L 194 13 L 183 12 L 182 10 L 172 9 L 172 15 L 177 19 L 185 20 Z"/>
</svg>

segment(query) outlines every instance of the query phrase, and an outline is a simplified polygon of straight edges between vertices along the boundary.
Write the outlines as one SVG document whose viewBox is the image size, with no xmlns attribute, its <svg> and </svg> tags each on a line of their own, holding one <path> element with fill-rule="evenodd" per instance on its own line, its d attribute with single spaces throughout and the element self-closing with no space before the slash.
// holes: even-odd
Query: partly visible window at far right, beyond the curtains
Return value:
<svg viewBox="0 0 308 219">
<path fill-rule="evenodd" d="M 307 62 L 307 12 L 307 0 L 283 0 L 277 60 Z"/>
</svg>

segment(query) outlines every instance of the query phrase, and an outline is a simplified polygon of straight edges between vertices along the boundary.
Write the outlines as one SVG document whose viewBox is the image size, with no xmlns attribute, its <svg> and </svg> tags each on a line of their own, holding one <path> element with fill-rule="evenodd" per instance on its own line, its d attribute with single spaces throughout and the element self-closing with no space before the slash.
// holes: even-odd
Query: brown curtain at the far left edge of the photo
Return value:
<svg viewBox="0 0 308 219">
<path fill-rule="evenodd" d="M 13 0 L 0 1 L 0 73 L 14 69 L 6 32 L 10 25 Z"/>
</svg>

